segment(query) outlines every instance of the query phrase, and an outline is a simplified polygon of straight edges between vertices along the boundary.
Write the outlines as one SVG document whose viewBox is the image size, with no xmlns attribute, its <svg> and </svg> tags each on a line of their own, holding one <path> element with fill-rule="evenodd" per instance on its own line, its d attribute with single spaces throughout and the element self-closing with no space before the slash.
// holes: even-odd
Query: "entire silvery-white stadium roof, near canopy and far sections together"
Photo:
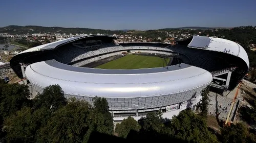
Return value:
<svg viewBox="0 0 256 143">
<path fill-rule="evenodd" d="M 33 47 L 15 55 L 12 58 L 12 67 L 15 67 L 16 71 L 21 70 L 21 68 L 16 68 L 16 65 L 19 65 L 22 61 L 20 59 L 26 58 L 30 52 L 33 55 L 34 51 L 54 50 L 60 45 L 93 36 L 106 35 L 73 37 Z M 221 38 L 194 36 L 188 47 L 237 56 L 243 59 L 249 67 L 247 53 L 236 42 Z M 212 81 L 209 71 L 184 63 L 180 67 L 173 65 L 168 68 L 123 70 L 75 67 L 48 60 L 30 64 L 25 74 L 31 83 L 42 88 L 51 84 L 59 84 L 67 94 L 108 98 L 161 96 L 195 89 Z"/>
</svg>

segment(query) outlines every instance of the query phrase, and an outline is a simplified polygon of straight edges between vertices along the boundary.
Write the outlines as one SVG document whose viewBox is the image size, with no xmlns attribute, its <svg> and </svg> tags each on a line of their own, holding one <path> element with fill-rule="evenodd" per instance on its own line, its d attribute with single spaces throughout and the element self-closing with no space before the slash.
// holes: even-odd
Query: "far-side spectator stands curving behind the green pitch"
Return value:
<svg viewBox="0 0 256 143">
<path fill-rule="evenodd" d="M 185 45 L 159 45 L 159 46 L 146 46 L 143 44 L 133 46 L 122 46 L 114 43 L 73 43 L 62 46 L 61 50 L 55 53 L 55 59 L 62 63 L 72 64 L 75 66 L 82 66 L 94 61 L 99 60 L 99 57 L 114 56 L 120 54 L 121 51 L 152 53 L 169 55 L 170 52 L 179 53 L 180 58 L 184 63 L 191 64 L 197 67 L 204 68 L 208 71 L 217 71 L 220 69 L 229 68 L 227 59 L 221 59 L 216 52 L 210 52 L 200 49 L 194 49 Z M 116 51 L 119 51 L 116 52 Z M 112 53 L 112 54 L 111 54 Z M 106 55 L 104 55 L 106 54 Z M 100 56 L 98 56 L 100 55 Z M 92 57 L 92 58 L 90 58 Z M 84 59 L 84 60 L 83 60 Z M 82 61 L 83 60 L 83 61 Z M 222 64 L 219 64 L 222 63 Z"/>
</svg>

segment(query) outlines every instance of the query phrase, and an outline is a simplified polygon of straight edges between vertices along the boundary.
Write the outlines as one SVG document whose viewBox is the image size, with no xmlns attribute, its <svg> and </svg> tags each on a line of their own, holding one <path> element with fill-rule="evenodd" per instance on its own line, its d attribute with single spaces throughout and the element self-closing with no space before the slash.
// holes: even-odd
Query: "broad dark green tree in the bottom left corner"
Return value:
<svg viewBox="0 0 256 143">
<path fill-rule="evenodd" d="M 4 131 L 7 142 L 36 142 L 37 130 L 46 126 L 51 117 L 50 109 L 45 107 L 33 111 L 30 107 L 24 107 L 16 114 L 6 118 Z"/>
</svg>

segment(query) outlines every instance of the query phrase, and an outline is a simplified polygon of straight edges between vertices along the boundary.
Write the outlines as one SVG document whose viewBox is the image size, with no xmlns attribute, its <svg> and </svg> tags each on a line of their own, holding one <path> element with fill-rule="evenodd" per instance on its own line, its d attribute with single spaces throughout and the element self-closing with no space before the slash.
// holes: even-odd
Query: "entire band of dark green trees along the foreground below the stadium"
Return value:
<svg viewBox="0 0 256 143">
<path fill-rule="evenodd" d="M 191 109 L 171 120 L 161 112 L 133 117 L 115 126 L 108 102 L 93 105 L 66 99 L 59 85 L 50 85 L 30 100 L 27 85 L 0 84 L 0 142 L 256 142 L 255 131 L 245 124 L 223 126 L 221 134 L 207 127 L 207 90 L 202 91 L 199 113 Z"/>
</svg>

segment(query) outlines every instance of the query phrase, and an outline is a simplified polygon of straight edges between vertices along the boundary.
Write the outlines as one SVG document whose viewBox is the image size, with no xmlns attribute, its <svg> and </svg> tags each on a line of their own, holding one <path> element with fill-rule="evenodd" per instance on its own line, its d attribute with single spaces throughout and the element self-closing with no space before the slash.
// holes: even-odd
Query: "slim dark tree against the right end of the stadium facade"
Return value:
<svg viewBox="0 0 256 143">
<path fill-rule="evenodd" d="M 200 110 L 200 115 L 204 118 L 207 117 L 207 113 L 208 113 L 208 106 L 209 106 L 209 86 L 207 86 L 206 88 L 204 88 L 201 92 L 201 96 L 202 99 L 201 101 L 197 104 L 197 108 L 198 110 Z"/>
</svg>

